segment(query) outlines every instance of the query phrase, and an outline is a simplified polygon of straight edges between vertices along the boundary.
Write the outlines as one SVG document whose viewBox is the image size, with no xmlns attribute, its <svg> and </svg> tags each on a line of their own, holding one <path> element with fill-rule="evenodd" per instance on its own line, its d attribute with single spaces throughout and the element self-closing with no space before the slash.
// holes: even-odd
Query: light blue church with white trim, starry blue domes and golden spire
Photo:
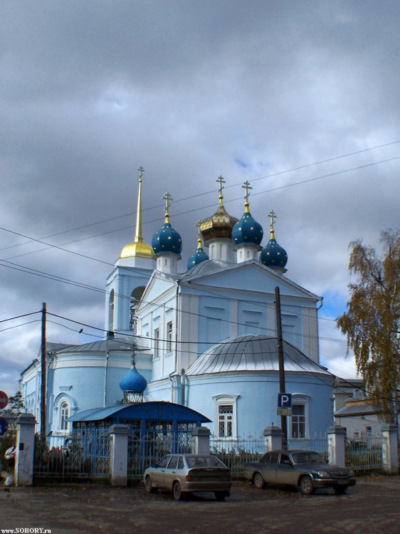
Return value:
<svg viewBox="0 0 400 534">
<path fill-rule="evenodd" d="M 169 221 L 169 194 L 162 228 L 151 246 L 144 243 L 140 169 L 135 238 L 122 248 L 106 282 L 107 336 L 86 345 L 48 347 L 48 431 L 66 433 L 69 417 L 115 406 L 122 395 L 130 402 L 139 383 L 125 378 L 133 352 L 144 400 L 200 412 L 217 438 L 260 436 L 265 426 L 280 426 L 275 288 L 285 391 L 293 400 L 288 435 L 307 439 L 332 425 L 333 377 L 319 364 L 322 298 L 285 276 L 288 256 L 275 240 L 272 211 L 270 239 L 261 246 L 263 229 L 250 213 L 248 182 L 241 219 L 226 212 L 224 181 L 217 182 L 216 212 L 199 221 L 197 250 L 179 273 L 182 243 Z M 25 405 L 36 419 L 38 367 L 36 360 L 21 379 Z"/>
</svg>

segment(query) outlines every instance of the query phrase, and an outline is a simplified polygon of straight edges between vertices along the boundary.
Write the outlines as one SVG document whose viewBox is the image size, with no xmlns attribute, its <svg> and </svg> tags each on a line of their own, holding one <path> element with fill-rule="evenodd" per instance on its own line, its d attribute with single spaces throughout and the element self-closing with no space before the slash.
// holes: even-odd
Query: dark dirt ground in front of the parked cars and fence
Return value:
<svg viewBox="0 0 400 534">
<path fill-rule="evenodd" d="M 0 534 L 2 529 L 48 529 L 51 534 L 397 534 L 400 476 L 361 477 L 343 496 L 332 490 L 313 496 L 270 487 L 259 491 L 236 483 L 223 503 L 211 493 L 178 502 L 169 493 L 148 495 L 142 486 L 1 486 Z"/>
</svg>

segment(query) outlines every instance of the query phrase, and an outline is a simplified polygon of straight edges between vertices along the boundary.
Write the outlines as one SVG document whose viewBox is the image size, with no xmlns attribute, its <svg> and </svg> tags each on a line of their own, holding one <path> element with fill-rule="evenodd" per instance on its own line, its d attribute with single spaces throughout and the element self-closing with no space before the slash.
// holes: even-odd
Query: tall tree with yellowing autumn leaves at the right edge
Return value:
<svg viewBox="0 0 400 534">
<path fill-rule="evenodd" d="M 354 352 L 357 371 L 381 412 L 381 419 L 396 422 L 400 362 L 400 231 L 381 232 L 383 254 L 362 241 L 352 241 L 347 312 L 337 326 L 347 335 L 347 352 Z"/>
</svg>

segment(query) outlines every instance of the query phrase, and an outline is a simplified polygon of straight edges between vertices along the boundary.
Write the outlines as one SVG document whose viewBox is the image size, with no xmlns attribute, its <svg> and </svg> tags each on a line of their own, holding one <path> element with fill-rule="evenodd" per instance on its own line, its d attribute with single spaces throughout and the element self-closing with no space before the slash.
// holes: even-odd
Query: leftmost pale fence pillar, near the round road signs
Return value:
<svg viewBox="0 0 400 534">
<path fill-rule="evenodd" d="M 33 414 L 21 414 L 16 419 L 16 459 L 14 478 L 16 486 L 32 486 L 35 456 L 35 424 Z"/>
</svg>

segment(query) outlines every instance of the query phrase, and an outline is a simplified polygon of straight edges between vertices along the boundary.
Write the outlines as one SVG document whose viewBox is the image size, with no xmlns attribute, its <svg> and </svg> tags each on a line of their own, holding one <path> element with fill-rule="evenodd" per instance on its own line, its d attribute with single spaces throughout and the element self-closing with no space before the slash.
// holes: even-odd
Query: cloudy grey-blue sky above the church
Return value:
<svg viewBox="0 0 400 534">
<path fill-rule="evenodd" d="M 354 376 L 334 319 L 349 242 L 399 227 L 399 19 L 397 0 L 1 0 L 0 389 L 38 353 L 42 303 L 49 341 L 101 335 L 78 323 L 104 326 L 140 166 L 144 239 L 170 192 L 181 272 L 216 178 L 236 217 L 251 182 L 286 276 L 324 298 L 322 364 Z"/>
</svg>

